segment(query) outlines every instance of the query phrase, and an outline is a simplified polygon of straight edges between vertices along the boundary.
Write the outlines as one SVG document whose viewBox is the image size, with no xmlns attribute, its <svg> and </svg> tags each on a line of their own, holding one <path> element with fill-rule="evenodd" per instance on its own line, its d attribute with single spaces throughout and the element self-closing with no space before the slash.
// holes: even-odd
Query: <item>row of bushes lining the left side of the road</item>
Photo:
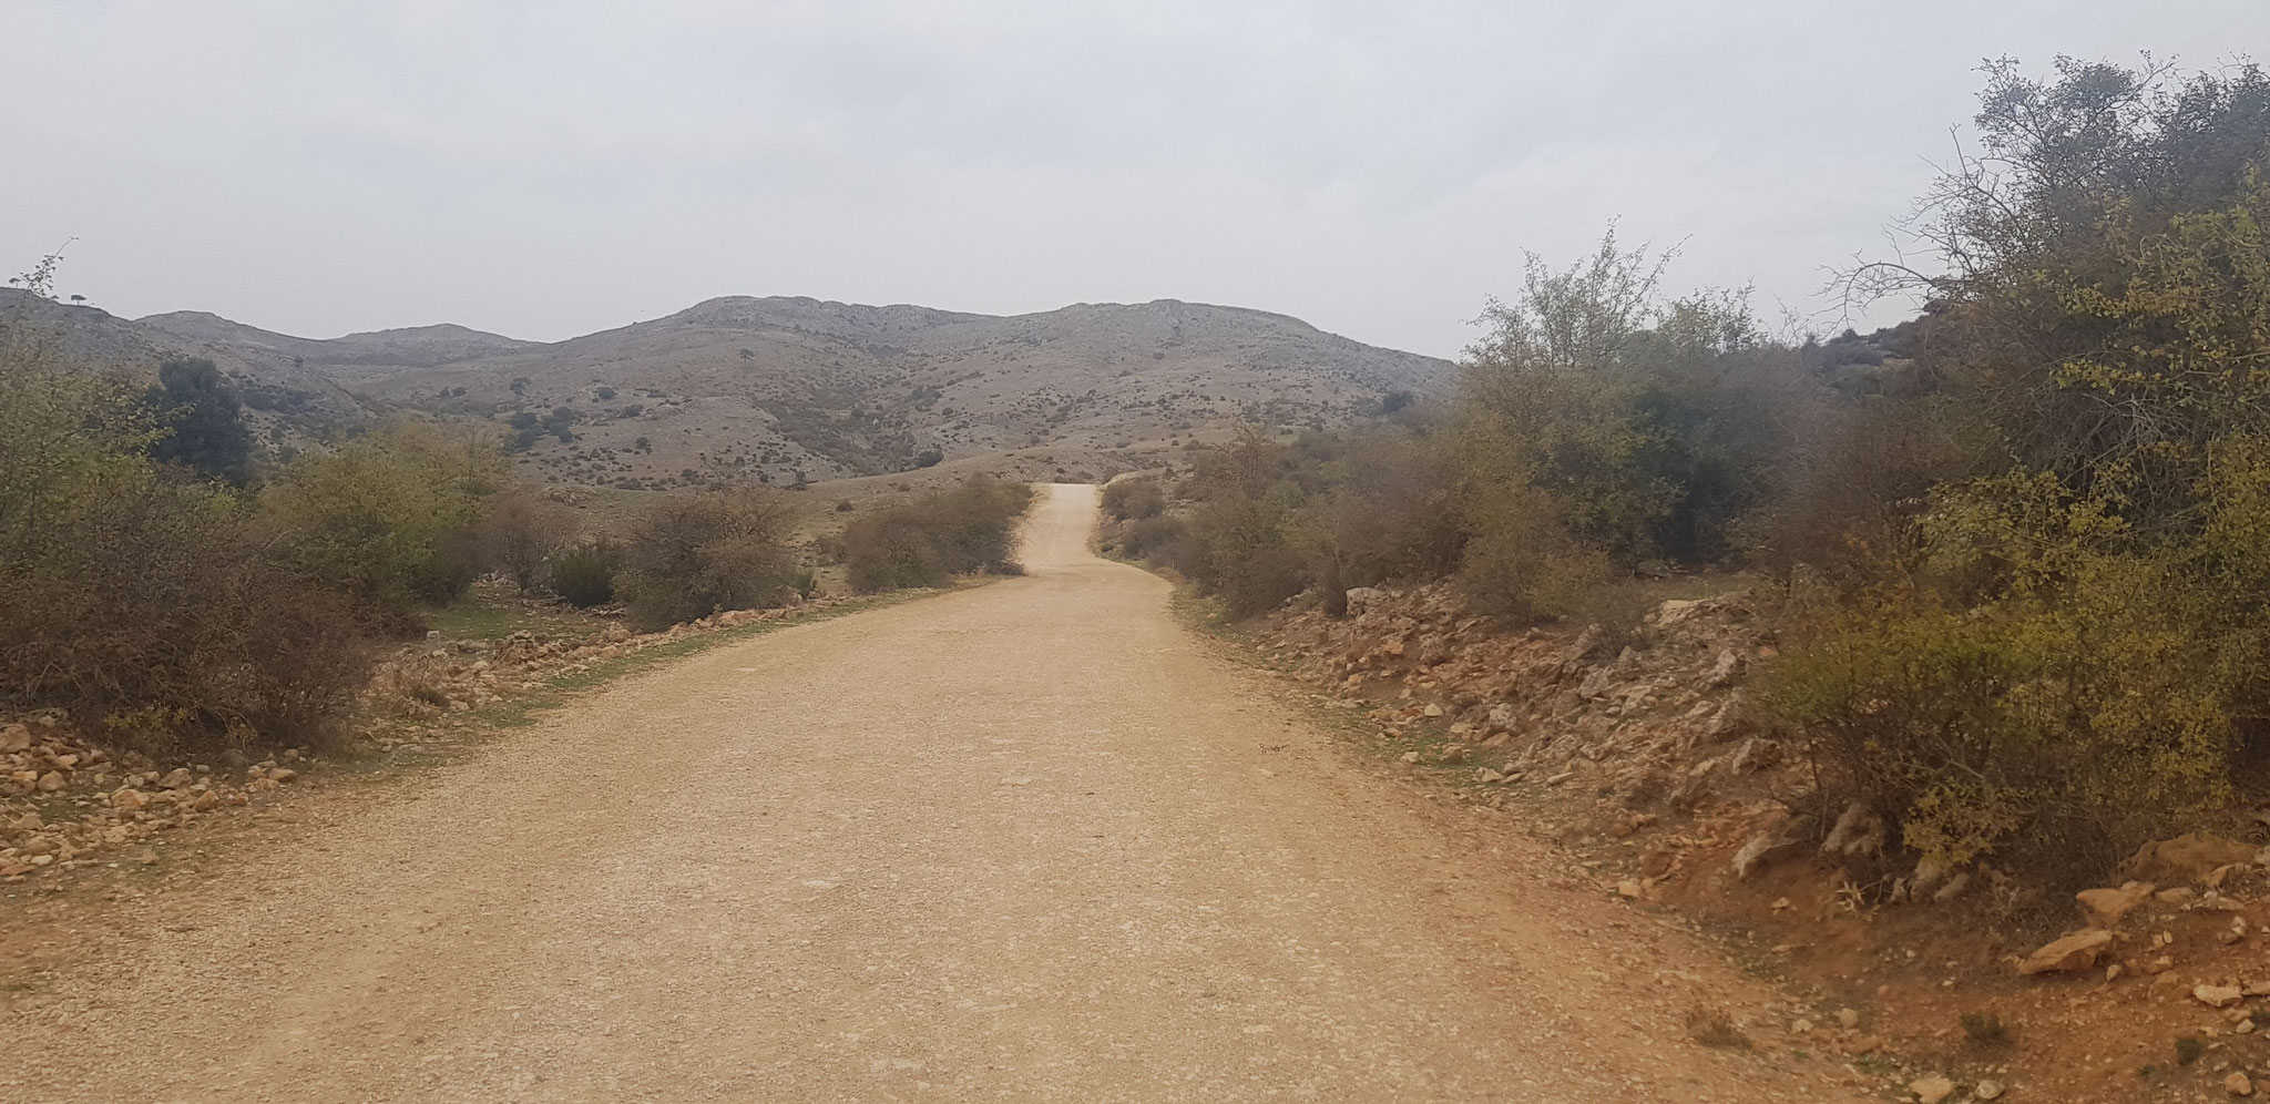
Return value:
<svg viewBox="0 0 2270 1104">
<path fill-rule="evenodd" d="M 45 295 L 52 268 L 25 284 Z M 257 461 L 209 361 L 141 379 L 0 323 L 0 704 L 64 709 L 120 750 L 325 747 L 381 652 L 490 575 L 649 632 L 817 591 L 785 491 L 658 495 L 586 534 L 513 484 L 515 443 L 479 423 L 404 418 Z M 1015 570 L 1026 500 L 969 484 L 856 520 L 858 591 Z"/>
</svg>

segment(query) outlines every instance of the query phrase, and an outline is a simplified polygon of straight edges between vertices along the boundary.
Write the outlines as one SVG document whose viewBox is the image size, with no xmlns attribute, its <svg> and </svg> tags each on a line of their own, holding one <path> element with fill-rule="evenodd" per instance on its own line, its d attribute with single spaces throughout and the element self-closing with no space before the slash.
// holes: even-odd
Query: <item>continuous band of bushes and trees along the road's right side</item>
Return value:
<svg viewBox="0 0 2270 1104">
<path fill-rule="evenodd" d="M 1678 572 L 1775 602 L 1764 709 L 1925 859 L 2100 875 L 2234 804 L 2270 718 L 2270 80 L 1986 68 L 1984 145 L 1786 336 L 1614 234 L 1530 259 L 1457 398 L 1105 493 L 1237 616 L 1455 579 L 1614 647 Z"/>
</svg>

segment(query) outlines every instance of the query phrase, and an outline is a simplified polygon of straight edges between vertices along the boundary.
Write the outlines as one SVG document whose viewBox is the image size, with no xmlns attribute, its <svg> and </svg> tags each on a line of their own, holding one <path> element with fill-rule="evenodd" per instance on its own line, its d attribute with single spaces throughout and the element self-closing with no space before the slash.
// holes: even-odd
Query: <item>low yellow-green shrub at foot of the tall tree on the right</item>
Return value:
<svg viewBox="0 0 2270 1104">
<path fill-rule="evenodd" d="M 1800 634 L 1766 695 L 1907 847 L 2086 884 L 2229 793 L 2234 729 L 2184 604 L 2118 561 L 1982 611 L 1884 588 Z"/>
</svg>

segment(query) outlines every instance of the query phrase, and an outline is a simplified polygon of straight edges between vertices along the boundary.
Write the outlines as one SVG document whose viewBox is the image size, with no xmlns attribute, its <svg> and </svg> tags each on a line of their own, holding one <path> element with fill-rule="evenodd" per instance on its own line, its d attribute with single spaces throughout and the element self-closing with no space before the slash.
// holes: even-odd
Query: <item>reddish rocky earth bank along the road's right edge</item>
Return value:
<svg viewBox="0 0 2270 1104">
<path fill-rule="evenodd" d="M 2222 1099 L 2270 1077 L 2254 843 L 2150 843 L 2068 911 L 1991 863 L 1902 859 L 1864 806 L 1814 809 L 1809 766 L 1748 702 L 1775 654 L 1748 591 L 1662 602 L 1628 638 L 1505 632 L 1451 586 L 1346 597 L 1344 618 L 1273 618 L 1262 650 L 1414 770 L 1571 845 L 1603 890 L 1771 943 L 1823 1009 L 1743 1024 L 1755 1040 L 1925 1102 Z"/>
</svg>

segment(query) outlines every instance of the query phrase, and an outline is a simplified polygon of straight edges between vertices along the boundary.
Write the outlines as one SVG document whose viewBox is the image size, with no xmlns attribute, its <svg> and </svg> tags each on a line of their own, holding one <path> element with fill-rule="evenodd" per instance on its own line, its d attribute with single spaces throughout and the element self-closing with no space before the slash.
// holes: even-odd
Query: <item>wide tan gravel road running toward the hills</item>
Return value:
<svg viewBox="0 0 2270 1104">
<path fill-rule="evenodd" d="M 309 797 L 16 995 L 0 1097 L 1839 1097 L 1687 1043 L 1696 979 L 1771 993 L 1335 745 L 1092 518 Z"/>
</svg>

